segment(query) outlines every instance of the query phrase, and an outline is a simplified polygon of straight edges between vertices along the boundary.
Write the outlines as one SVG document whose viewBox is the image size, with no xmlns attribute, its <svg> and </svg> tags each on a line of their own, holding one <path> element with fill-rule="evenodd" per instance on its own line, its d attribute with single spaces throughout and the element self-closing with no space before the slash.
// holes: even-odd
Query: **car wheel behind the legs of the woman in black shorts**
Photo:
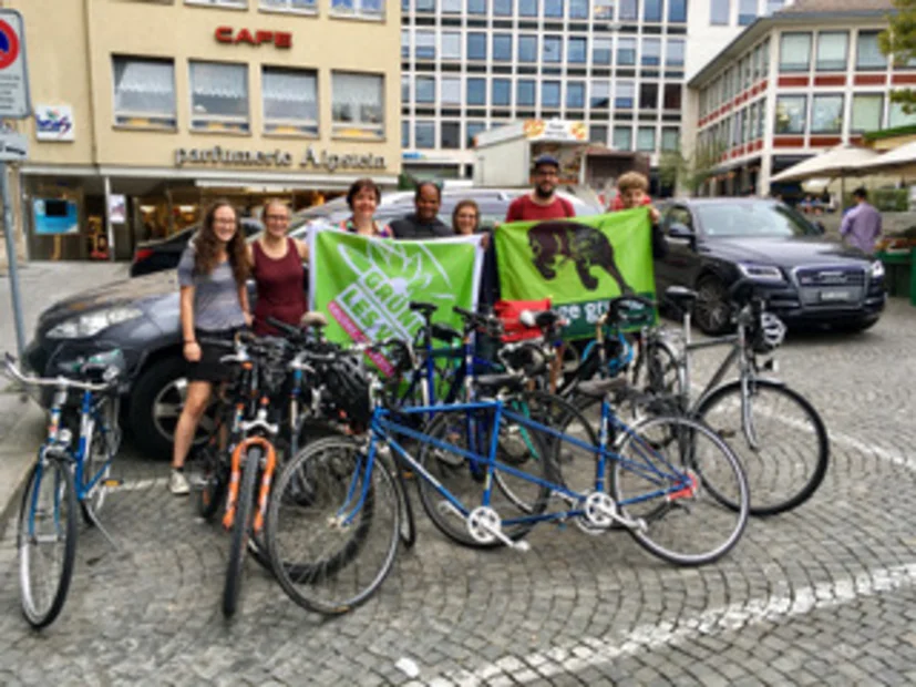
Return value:
<svg viewBox="0 0 916 687">
<path fill-rule="evenodd" d="M 187 397 L 186 362 L 178 357 L 156 361 L 134 384 L 130 425 L 137 448 L 150 458 L 171 460 L 175 428 Z M 197 427 L 199 443 L 213 429 L 208 409 Z"/>
</svg>

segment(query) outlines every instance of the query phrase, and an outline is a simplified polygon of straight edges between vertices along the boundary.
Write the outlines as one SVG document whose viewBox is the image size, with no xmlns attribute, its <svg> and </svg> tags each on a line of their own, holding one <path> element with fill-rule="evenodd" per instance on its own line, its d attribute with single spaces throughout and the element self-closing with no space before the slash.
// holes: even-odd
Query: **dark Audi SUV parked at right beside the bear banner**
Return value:
<svg viewBox="0 0 916 687">
<path fill-rule="evenodd" d="M 699 294 L 693 318 L 707 334 L 730 329 L 729 287 L 757 281 L 788 325 L 861 331 L 884 309 L 884 266 L 823 235 L 776 201 L 691 198 L 660 207 L 668 255 L 656 260 L 656 288 Z"/>
</svg>

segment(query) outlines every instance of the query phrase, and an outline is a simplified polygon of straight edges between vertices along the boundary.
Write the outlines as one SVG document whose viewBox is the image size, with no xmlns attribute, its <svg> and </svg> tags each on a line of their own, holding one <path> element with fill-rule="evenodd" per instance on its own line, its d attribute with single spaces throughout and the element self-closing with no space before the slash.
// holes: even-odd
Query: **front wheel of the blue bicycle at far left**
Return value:
<svg viewBox="0 0 916 687">
<path fill-rule="evenodd" d="M 32 627 L 47 627 L 63 608 L 76 558 L 76 512 L 70 465 L 38 462 L 22 494 L 17 536 L 22 614 Z"/>
</svg>

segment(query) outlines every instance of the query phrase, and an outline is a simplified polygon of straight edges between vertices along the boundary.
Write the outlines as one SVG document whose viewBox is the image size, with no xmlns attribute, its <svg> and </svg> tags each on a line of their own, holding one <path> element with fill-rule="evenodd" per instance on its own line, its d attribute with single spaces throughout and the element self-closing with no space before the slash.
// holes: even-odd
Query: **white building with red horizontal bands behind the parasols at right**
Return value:
<svg viewBox="0 0 916 687">
<path fill-rule="evenodd" d="M 865 132 L 916 124 L 892 103 L 916 63 L 878 48 L 889 1 L 800 0 L 749 27 L 691 81 L 686 143 L 714 161 L 702 192 L 768 194 L 770 177 Z"/>
</svg>

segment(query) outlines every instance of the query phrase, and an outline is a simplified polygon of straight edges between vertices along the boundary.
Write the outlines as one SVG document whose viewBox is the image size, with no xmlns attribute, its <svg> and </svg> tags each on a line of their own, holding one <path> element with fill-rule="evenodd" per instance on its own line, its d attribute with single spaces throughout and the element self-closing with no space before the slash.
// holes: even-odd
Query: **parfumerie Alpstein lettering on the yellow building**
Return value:
<svg viewBox="0 0 916 687">
<path fill-rule="evenodd" d="M 184 167 L 185 165 L 227 165 L 282 168 L 292 167 L 295 164 L 302 168 L 322 170 L 325 172 L 385 168 L 383 155 L 372 155 L 371 153 L 341 155 L 325 150 L 316 150 L 312 146 L 307 147 L 298 160 L 295 160 L 289 151 L 279 148 L 272 151 L 234 151 L 222 145 L 207 148 L 175 148 L 176 167 Z"/>
</svg>

